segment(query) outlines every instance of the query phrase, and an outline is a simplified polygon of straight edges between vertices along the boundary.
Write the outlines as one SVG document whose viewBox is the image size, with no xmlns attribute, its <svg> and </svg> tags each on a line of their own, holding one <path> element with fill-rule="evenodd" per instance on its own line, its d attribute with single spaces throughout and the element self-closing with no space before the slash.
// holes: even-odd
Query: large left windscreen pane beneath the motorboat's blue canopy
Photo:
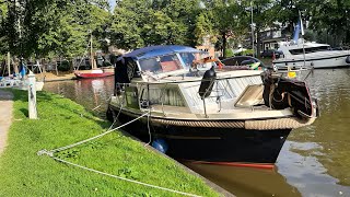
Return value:
<svg viewBox="0 0 350 197">
<path fill-rule="evenodd" d="M 153 73 L 170 72 L 183 68 L 176 55 L 166 55 L 150 59 L 141 59 L 140 67 L 142 71 L 150 71 Z"/>
</svg>

